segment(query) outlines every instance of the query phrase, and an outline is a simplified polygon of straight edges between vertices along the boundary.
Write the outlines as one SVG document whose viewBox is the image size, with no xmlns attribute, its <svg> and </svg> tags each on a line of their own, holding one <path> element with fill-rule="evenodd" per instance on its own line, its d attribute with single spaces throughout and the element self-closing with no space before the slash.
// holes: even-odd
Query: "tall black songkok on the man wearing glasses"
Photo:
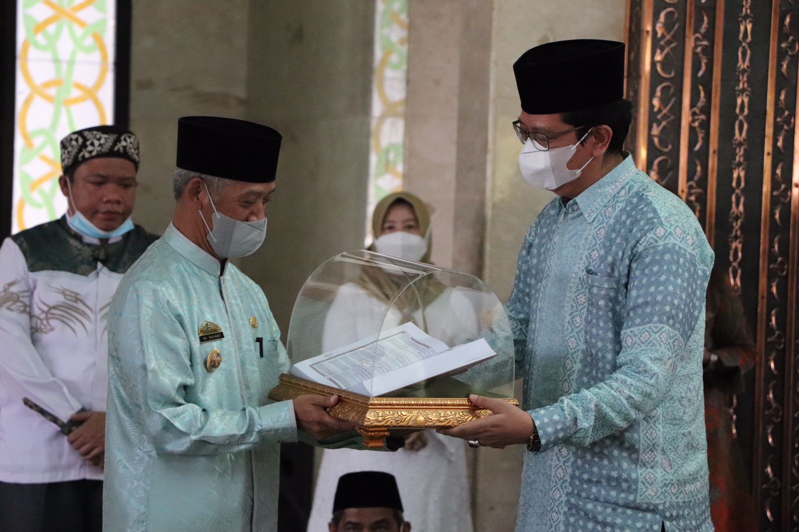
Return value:
<svg viewBox="0 0 799 532">
<path fill-rule="evenodd" d="M 513 64 L 522 110 L 568 113 L 624 97 L 624 43 L 576 39 L 527 50 Z"/>
</svg>

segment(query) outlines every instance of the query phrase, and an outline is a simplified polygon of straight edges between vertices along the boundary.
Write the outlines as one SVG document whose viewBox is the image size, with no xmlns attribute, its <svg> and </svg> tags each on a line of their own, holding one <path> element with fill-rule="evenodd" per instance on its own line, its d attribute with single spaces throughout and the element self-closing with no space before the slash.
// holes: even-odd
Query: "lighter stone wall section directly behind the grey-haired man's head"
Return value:
<svg viewBox="0 0 799 532">
<path fill-rule="evenodd" d="M 247 0 L 133 2 L 130 129 L 141 141 L 133 219 L 150 231 L 172 220 L 177 119 L 244 117 L 247 26 Z"/>
</svg>

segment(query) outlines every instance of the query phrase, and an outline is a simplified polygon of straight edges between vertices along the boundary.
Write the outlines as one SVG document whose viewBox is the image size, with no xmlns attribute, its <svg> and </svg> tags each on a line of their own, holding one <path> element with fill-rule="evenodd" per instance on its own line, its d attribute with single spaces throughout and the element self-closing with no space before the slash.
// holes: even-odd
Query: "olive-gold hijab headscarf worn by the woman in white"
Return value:
<svg viewBox="0 0 799 532">
<path fill-rule="evenodd" d="M 418 196 L 403 191 L 389 194 L 376 205 L 375 212 L 372 214 L 372 241 L 380 237 L 389 209 L 398 202 L 406 202 L 411 205 L 411 209 L 416 216 L 416 223 L 419 225 L 419 232 L 422 235 L 427 234 L 430 229 L 430 211 L 427 209 L 427 205 Z M 432 239 L 427 240 L 427 252 L 424 253 L 419 262 L 431 264 L 431 241 Z M 368 250 L 376 251 L 375 244 L 369 246 Z M 394 300 L 394 296 L 407 284 L 407 277 L 392 276 L 378 271 L 377 268 L 364 268 L 357 283 L 376 299 L 390 303 Z M 419 310 L 420 306 L 421 308 L 427 308 L 427 305 L 435 301 L 446 288 L 435 277 L 425 276 L 417 280 L 402 296 L 396 298 L 394 306 L 403 315 L 407 316 Z"/>
</svg>

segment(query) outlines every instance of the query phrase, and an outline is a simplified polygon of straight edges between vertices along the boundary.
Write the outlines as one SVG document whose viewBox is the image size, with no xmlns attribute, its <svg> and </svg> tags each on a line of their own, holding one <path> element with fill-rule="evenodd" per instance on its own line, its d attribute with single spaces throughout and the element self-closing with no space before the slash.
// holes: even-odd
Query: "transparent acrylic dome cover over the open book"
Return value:
<svg viewBox="0 0 799 532">
<path fill-rule="evenodd" d="M 297 296 L 292 375 L 370 397 L 513 396 L 510 322 L 464 272 L 375 252 L 326 261 Z"/>
</svg>

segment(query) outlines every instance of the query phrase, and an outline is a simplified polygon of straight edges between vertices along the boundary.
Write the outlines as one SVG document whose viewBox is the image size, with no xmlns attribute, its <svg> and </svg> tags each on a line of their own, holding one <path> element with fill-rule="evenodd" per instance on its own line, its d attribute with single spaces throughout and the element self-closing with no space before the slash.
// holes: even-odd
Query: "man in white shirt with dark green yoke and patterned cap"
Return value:
<svg viewBox="0 0 799 532">
<path fill-rule="evenodd" d="M 108 336 L 122 275 L 157 239 L 130 219 L 137 137 L 61 141 L 68 209 L 0 247 L 0 530 L 101 530 Z M 23 399 L 28 399 L 23 403 Z"/>
</svg>

